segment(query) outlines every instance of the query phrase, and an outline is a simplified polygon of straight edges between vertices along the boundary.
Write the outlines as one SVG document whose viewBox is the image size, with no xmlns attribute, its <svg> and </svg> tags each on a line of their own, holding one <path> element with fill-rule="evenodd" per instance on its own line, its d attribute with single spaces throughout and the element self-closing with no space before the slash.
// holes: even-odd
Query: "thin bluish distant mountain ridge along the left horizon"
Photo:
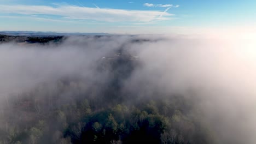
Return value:
<svg viewBox="0 0 256 144">
<path fill-rule="evenodd" d="M 34 32 L 34 31 L 0 31 L 0 34 L 13 35 L 13 36 L 110 35 L 108 33 L 58 33 L 58 32 Z"/>
</svg>

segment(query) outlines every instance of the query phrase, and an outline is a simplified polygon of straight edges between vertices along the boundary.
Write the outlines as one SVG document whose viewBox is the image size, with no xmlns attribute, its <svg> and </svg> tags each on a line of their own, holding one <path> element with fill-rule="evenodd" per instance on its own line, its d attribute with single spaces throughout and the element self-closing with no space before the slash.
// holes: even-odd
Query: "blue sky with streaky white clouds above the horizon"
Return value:
<svg viewBox="0 0 256 144">
<path fill-rule="evenodd" d="M 255 32 L 255 6 L 255 0 L 0 0 L 0 31 Z"/>
</svg>

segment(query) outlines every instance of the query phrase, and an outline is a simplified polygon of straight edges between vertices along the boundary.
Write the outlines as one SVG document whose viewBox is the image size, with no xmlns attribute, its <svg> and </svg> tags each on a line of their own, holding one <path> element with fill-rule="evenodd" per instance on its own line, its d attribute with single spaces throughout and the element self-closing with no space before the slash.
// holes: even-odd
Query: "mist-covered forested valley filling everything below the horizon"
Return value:
<svg viewBox="0 0 256 144">
<path fill-rule="evenodd" d="M 255 143 L 255 43 L 1 37 L 0 143 Z"/>
</svg>

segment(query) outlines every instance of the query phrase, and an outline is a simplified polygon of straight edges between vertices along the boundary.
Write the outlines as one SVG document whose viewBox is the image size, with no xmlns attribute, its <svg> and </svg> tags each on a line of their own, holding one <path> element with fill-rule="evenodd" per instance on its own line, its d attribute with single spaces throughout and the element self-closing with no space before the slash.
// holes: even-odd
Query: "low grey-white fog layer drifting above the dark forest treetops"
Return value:
<svg viewBox="0 0 256 144">
<path fill-rule="evenodd" d="M 136 93 L 140 99 L 159 97 L 154 91 L 164 97 L 193 97 L 197 99 L 195 110 L 202 112 L 199 121 L 214 132 L 217 143 L 255 143 L 254 44 L 165 35 L 69 37 L 61 44 L 46 45 L 1 44 L 1 101 L 5 103 L 6 97 L 38 83 L 67 76 L 104 82 L 109 77 L 96 71 L 98 62 L 116 57 L 121 49 L 139 63 L 123 81 L 124 92 Z"/>
</svg>

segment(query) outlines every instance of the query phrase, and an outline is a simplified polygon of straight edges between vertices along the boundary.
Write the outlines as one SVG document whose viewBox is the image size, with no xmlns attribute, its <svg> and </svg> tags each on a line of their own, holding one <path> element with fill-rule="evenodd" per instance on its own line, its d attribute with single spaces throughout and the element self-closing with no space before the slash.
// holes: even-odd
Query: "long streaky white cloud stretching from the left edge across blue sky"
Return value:
<svg viewBox="0 0 256 144">
<path fill-rule="evenodd" d="M 149 22 L 158 20 L 161 15 L 162 20 L 168 20 L 173 14 L 162 11 L 150 10 L 123 10 L 107 8 L 78 7 L 74 5 L 57 5 L 50 7 L 45 5 L 0 5 L 2 14 L 21 15 L 53 15 L 62 19 L 82 19 L 105 22 Z"/>
</svg>

